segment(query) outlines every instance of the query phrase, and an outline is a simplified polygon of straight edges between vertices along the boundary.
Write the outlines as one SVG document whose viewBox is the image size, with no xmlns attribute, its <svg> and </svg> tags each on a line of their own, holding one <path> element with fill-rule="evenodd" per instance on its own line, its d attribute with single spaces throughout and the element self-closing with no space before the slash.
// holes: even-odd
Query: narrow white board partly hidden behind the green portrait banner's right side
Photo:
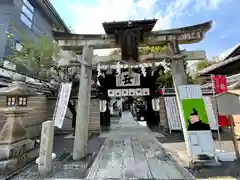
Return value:
<svg viewBox="0 0 240 180">
<path fill-rule="evenodd" d="M 204 96 L 204 102 L 205 102 L 205 106 L 206 106 L 206 111 L 207 111 L 207 115 L 208 115 L 208 122 L 210 125 L 211 130 L 217 130 L 218 129 L 218 125 L 217 125 L 217 119 L 213 110 L 213 105 L 211 103 L 211 99 L 208 96 Z"/>
</svg>

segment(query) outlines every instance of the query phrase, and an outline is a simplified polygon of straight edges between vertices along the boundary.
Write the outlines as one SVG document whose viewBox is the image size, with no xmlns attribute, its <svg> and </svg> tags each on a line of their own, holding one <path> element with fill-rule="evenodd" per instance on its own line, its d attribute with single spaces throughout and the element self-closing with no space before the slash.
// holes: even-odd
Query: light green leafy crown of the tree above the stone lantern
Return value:
<svg viewBox="0 0 240 180">
<path fill-rule="evenodd" d="M 29 39 L 23 32 L 17 31 L 22 35 L 22 48 L 18 51 L 15 48 L 14 35 L 8 34 L 12 54 L 5 57 L 4 60 L 15 64 L 17 72 L 37 79 L 51 80 L 59 70 L 55 60 L 60 52 L 58 44 L 46 35 L 42 35 L 38 39 Z"/>
</svg>

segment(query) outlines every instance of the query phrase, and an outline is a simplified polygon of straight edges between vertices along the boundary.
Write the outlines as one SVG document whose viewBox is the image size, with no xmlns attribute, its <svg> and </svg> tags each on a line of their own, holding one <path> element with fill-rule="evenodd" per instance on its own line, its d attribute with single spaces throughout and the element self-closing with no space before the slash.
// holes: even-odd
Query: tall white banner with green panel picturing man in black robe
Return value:
<svg viewBox="0 0 240 180">
<path fill-rule="evenodd" d="M 182 128 L 190 155 L 215 154 L 205 103 L 200 85 L 179 86 Z"/>
</svg>

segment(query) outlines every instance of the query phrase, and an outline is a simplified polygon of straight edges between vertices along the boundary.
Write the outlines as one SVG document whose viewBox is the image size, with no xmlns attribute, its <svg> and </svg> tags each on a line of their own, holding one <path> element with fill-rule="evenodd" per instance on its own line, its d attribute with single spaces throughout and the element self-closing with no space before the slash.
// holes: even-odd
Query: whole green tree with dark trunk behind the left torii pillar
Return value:
<svg viewBox="0 0 240 180">
<path fill-rule="evenodd" d="M 61 82 L 72 82 L 72 90 L 79 86 L 77 73 L 72 72 L 70 68 L 61 68 L 58 66 L 60 47 L 47 35 L 42 35 L 38 39 L 29 39 L 23 31 L 15 29 L 21 33 L 21 50 L 15 48 L 15 36 L 8 33 L 9 42 L 12 47 L 12 54 L 5 57 L 4 60 L 10 61 L 17 67 L 17 72 L 24 73 L 30 77 L 40 80 L 47 86 L 52 95 L 57 96 L 58 87 L 52 88 L 49 83 L 54 80 L 58 85 Z M 78 88 L 77 88 L 78 89 Z M 73 92 L 73 91 L 72 91 Z M 73 93 L 71 92 L 72 97 Z M 73 126 L 76 121 L 75 106 L 69 100 L 68 108 L 72 113 Z"/>
</svg>

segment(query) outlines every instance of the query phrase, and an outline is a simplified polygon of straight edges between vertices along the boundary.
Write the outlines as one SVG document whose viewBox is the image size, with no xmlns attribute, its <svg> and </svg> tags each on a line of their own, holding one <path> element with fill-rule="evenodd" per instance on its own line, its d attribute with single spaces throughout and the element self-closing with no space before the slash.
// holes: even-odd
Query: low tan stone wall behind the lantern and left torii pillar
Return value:
<svg viewBox="0 0 240 180">
<path fill-rule="evenodd" d="M 41 134 L 42 122 L 52 120 L 56 98 L 47 98 L 45 95 L 36 95 L 28 98 L 28 114 L 22 121 L 26 128 L 28 138 L 35 138 Z M 6 107 L 6 96 L 0 96 L 0 108 Z M 89 131 L 100 132 L 99 101 L 91 100 Z M 71 112 L 67 110 L 63 127 L 60 131 L 72 131 Z M 5 123 L 5 117 L 0 111 L 0 130 Z M 59 130 L 56 128 L 56 130 Z"/>
</svg>

